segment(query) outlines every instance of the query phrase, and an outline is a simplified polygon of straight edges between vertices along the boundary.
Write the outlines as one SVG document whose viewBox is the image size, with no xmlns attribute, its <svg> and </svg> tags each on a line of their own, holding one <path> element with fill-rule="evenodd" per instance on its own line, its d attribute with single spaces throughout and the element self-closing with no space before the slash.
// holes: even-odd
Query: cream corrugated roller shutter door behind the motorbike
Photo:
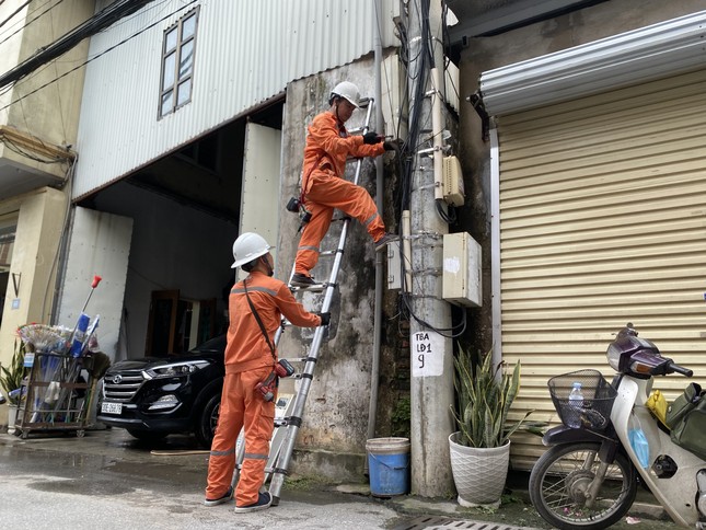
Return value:
<svg viewBox="0 0 706 530">
<path fill-rule="evenodd" d="M 612 378 L 633 322 L 706 376 L 706 70 L 499 118 L 502 356 L 516 414 L 556 422 L 546 381 Z M 686 379 L 662 378 L 668 395 Z M 516 465 L 543 452 L 514 439 Z"/>
</svg>

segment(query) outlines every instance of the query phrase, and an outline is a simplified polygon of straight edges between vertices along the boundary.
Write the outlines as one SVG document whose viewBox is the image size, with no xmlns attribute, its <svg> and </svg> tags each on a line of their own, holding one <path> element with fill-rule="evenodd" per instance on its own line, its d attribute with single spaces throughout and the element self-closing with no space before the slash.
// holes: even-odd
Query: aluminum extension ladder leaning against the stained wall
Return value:
<svg viewBox="0 0 706 530">
<path fill-rule="evenodd" d="M 367 108 L 366 122 L 361 129 L 356 130 L 356 134 L 361 132 L 364 135 L 370 130 L 370 119 L 372 115 L 373 103 L 374 102 L 372 99 L 367 99 L 360 102 L 360 107 Z M 358 184 L 360 180 L 360 170 L 362 168 L 362 159 L 354 160 L 356 163 L 356 172 L 352 183 Z M 312 285 L 310 287 L 292 287 L 291 278 L 294 275 L 293 266 L 289 276 L 289 288 L 294 295 L 297 295 L 298 292 L 325 291 L 324 300 L 321 307 L 322 313 L 328 312 L 331 310 L 334 293 L 336 291 L 336 287 L 338 286 L 336 281 L 338 278 L 338 273 L 340 270 L 340 262 L 343 260 L 346 238 L 348 235 L 348 224 L 350 223 L 350 217 L 345 216 L 340 219 L 340 221 L 343 222 L 343 228 L 340 230 L 340 237 L 338 238 L 338 246 L 335 251 L 320 253 L 320 257 L 334 256 L 334 263 L 328 276 L 328 280 L 323 284 Z M 287 326 L 287 324 L 288 323 L 282 320 L 282 325 L 279 327 L 279 330 L 277 330 L 277 334 L 275 335 L 275 345 L 279 343 L 282 331 Z M 306 357 L 287 359 L 292 364 L 304 362 L 304 367 L 301 372 L 297 372 L 291 376 L 293 379 L 299 380 L 299 388 L 296 388 L 294 396 L 287 403 L 283 416 L 281 418 L 275 418 L 275 430 L 273 433 L 273 438 L 270 441 L 269 458 L 265 468 L 265 484 L 267 484 L 267 482 L 269 481 L 269 493 L 273 497 L 273 506 L 277 506 L 279 504 L 279 494 L 281 492 L 282 484 L 285 483 L 285 475 L 287 475 L 287 470 L 289 468 L 291 454 L 294 449 L 297 435 L 299 433 L 302 417 L 304 415 L 304 405 L 306 404 L 309 389 L 311 388 L 311 381 L 313 380 L 314 368 L 316 366 L 316 360 L 319 359 L 319 349 L 326 332 L 326 326 L 319 326 L 315 329 L 314 336 L 311 342 L 311 347 L 309 349 L 309 355 Z M 245 454 L 245 442 L 242 433 L 239 437 L 235 452 L 236 462 L 235 470 L 233 472 L 233 487 L 235 487 L 235 483 L 240 477 L 240 470 L 242 468 L 243 458 Z"/>
</svg>

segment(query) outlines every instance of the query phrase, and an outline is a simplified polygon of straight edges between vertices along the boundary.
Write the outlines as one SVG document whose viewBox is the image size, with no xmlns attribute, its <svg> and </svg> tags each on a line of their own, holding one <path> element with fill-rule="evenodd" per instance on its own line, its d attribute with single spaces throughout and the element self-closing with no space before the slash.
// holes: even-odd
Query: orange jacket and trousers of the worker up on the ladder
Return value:
<svg viewBox="0 0 706 530">
<path fill-rule="evenodd" d="M 309 276 L 319 262 L 319 244 L 328 231 L 334 208 L 358 219 L 373 241 L 385 234 L 370 194 L 343 178 L 348 157 L 377 157 L 384 151 L 382 142 L 366 145 L 362 136 L 348 136 L 345 125 L 331 111 L 314 117 L 306 136 L 302 177 L 304 205 L 312 216 L 299 242 L 296 273 Z"/>
</svg>

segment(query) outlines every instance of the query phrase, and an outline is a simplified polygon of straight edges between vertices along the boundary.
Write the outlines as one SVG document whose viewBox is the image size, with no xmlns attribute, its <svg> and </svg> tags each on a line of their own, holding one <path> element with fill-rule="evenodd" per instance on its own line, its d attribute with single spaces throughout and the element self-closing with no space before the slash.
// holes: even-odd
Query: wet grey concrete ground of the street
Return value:
<svg viewBox="0 0 706 530">
<path fill-rule="evenodd" d="M 202 506 L 208 454 L 188 437 L 172 436 L 159 448 L 123 429 L 0 435 L 0 514 L 13 530 L 131 528 L 548 529 L 529 502 L 526 474 L 511 473 L 498 510 L 460 507 L 453 499 L 370 495 L 367 483 L 323 484 L 288 477 L 279 506 L 234 514 L 231 505 Z M 155 454 L 154 449 L 166 454 Z M 676 528 L 663 520 L 647 492 L 629 520 L 613 528 Z M 9 521 L 12 521 L 11 523 Z M 486 526 L 493 522 L 493 526 Z"/>
</svg>

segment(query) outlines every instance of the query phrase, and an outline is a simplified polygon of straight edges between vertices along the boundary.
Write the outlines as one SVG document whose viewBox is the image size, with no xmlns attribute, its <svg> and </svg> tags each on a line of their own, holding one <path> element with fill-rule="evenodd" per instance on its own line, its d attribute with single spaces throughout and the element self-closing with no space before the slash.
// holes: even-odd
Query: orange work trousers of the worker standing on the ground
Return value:
<svg viewBox="0 0 706 530">
<path fill-rule="evenodd" d="M 271 371 L 271 367 L 265 367 L 225 375 L 218 427 L 208 459 L 206 498 L 222 497 L 230 487 L 235 470 L 235 442 L 241 428 L 245 427 L 245 456 L 235 488 L 235 503 L 238 506 L 257 503 L 259 488 L 265 482 L 277 399 L 265 401 L 263 394 L 255 391 L 255 385 Z"/>
</svg>

